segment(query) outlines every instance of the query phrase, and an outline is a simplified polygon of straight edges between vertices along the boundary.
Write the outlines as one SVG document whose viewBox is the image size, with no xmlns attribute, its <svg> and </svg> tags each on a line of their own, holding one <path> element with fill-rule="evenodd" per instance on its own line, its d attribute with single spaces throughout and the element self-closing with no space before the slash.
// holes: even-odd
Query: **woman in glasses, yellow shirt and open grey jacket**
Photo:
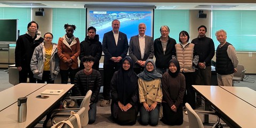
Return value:
<svg viewBox="0 0 256 128">
<path fill-rule="evenodd" d="M 60 59 L 57 54 L 57 44 L 52 43 L 53 35 L 44 34 L 44 42 L 36 47 L 30 68 L 37 83 L 54 83 L 60 71 Z"/>
</svg>

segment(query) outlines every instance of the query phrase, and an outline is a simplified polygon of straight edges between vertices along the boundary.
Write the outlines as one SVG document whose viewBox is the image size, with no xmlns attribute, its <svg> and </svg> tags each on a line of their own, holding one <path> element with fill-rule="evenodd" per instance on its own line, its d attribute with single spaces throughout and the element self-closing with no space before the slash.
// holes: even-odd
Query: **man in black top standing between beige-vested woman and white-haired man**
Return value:
<svg viewBox="0 0 256 128">
<path fill-rule="evenodd" d="M 202 25 L 198 27 L 198 37 L 191 43 L 195 44 L 194 51 L 199 55 L 199 61 L 196 69 L 196 85 L 211 84 L 211 60 L 215 54 L 214 43 L 211 38 L 206 37 L 207 28 Z M 201 96 L 197 96 L 196 107 L 201 106 Z"/>
</svg>

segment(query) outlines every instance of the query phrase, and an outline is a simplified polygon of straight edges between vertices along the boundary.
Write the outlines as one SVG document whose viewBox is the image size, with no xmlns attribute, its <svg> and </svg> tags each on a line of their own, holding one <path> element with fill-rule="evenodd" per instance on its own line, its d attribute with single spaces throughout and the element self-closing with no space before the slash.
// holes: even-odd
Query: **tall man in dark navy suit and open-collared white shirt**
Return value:
<svg viewBox="0 0 256 128">
<path fill-rule="evenodd" d="M 106 106 L 109 103 L 110 82 L 115 73 L 122 65 L 122 59 L 128 52 L 128 40 L 126 34 L 119 31 L 120 21 L 112 21 L 113 30 L 103 36 L 102 51 L 104 53 L 104 83 L 103 83 L 103 101 L 100 106 Z"/>
</svg>

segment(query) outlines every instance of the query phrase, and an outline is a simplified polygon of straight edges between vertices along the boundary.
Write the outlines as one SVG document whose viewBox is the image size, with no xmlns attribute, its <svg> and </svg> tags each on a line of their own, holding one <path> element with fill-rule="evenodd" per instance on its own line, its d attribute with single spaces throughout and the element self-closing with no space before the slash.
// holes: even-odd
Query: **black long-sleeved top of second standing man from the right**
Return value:
<svg viewBox="0 0 256 128">
<path fill-rule="evenodd" d="M 198 62 L 205 62 L 206 66 L 211 66 L 211 60 L 215 54 L 214 42 L 209 37 L 194 38 L 191 43 L 195 44 L 194 51 L 199 55 Z"/>
</svg>

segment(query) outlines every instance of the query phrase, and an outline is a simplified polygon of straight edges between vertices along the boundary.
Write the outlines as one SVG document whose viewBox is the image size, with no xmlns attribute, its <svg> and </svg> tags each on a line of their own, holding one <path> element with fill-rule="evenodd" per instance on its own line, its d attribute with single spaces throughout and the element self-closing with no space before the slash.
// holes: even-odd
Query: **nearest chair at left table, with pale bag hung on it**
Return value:
<svg viewBox="0 0 256 128">
<path fill-rule="evenodd" d="M 77 128 L 81 128 L 81 118 L 83 118 L 84 113 L 85 113 L 85 107 L 83 107 L 79 111 L 77 111 L 76 114 L 78 114 L 79 117 L 71 116 L 71 117 L 61 121 L 58 124 L 54 124 L 52 127 L 63 127 L 63 128 L 77 127 Z M 55 115 L 53 115 L 53 118 L 60 117 L 60 116 L 66 116 L 66 115 L 55 114 Z"/>
</svg>

